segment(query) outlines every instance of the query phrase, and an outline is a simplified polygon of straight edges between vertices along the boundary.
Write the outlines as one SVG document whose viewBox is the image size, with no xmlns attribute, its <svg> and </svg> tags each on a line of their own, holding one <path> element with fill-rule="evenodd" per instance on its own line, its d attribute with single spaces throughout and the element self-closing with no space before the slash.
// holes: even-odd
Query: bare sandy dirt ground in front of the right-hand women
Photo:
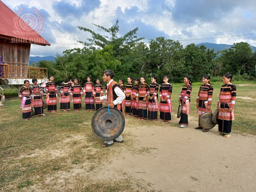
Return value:
<svg viewBox="0 0 256 192">
<path fill-rule="evenodd" d="M 110 157 L 94 177 L 130 175 L 144 186 L 137 184 L 139 190 L 256 191 L 256 137 L 224 138 L 216 134 L 218 127 L 203 133 L 194 129 L 197 119 L 192 118 L 185 129 L 177 128 L 176 117 L 163 126 L 145 122 L 137 127 L 136 121 L 126 118 L 124 139 L 127 145 L 134 143 L 131 150 Z M 112 147 L 123 148 L 125 143 Z"/>
</svg>

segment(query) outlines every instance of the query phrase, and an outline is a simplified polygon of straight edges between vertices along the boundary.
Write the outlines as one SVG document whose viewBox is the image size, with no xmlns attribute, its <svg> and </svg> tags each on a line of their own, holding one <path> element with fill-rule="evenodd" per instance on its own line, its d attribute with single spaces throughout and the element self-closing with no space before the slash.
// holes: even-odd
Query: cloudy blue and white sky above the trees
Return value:
<svg viewBox="0 0 256 192">
<path fill-rule="evenodd" d="M 44 16 L 42 36 L 50 47 L 32 45 L 31 56 L 55 56 L 66 49 L 81 47 L 76 41 L 90 38 L 83 26 L 102 32 L 91 23 L 111 27 L 119 19 L 120 34 L 139 27 L 144 41 L 159 36 L 174 40 L 223 37 L 256 33 L 256 0 L 2 0 L 21 15 L 38 9 Z M 20 15 L 20 16 L 21 16 Z M 207 40 L 180 41 L 185 47 L 195 43 L 256 46 L 256 35 Z"/>
</svg>

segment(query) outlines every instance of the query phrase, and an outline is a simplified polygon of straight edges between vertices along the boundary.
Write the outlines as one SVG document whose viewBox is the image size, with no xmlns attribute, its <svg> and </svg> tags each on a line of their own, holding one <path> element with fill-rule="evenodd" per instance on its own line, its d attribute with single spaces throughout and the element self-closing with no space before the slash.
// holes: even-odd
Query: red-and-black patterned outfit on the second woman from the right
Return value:
<svg viewBox="0 0 256 192">
<path fill-rule="evenodd" d="M 201 117 L 205 112 L 212 113 L 212 109 L 207 111 L 207 106 L 212 104 L 213 87 L 210 84 L 202 84 L 198 91 L 196 102 L 199 103 L 197 114 Z"/>
</svg>

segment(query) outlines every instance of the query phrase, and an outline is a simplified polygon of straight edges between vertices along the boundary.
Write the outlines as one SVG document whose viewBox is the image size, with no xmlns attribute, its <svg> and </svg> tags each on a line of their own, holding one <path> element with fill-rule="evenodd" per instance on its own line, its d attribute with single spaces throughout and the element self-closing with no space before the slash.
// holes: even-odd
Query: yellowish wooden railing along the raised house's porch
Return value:
<svg viewBox="0 0 256 192">
<path fill-rule="evenodd" d="M 0 79 L 48 79 L 47 68 L 0 64 Z"/>
</svg>

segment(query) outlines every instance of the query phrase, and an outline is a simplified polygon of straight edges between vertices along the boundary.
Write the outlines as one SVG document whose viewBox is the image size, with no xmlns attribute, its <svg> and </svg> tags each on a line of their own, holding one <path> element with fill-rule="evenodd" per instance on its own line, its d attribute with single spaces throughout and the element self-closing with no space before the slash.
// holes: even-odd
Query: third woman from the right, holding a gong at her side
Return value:
<svg viewBox="0 0 256 192">
<path fill-rule="evenodd" d="M 188 114 L 190 113 L 190 94 L 192 91 L 192 82 L 190 76 L 186 76 L 183 79 L 185 83 L 182 87 L 179 104 L 182 104 L 182 112 L 180 115 L 180 128 L 186 128 L 189 124 Z"/>
</svg>

